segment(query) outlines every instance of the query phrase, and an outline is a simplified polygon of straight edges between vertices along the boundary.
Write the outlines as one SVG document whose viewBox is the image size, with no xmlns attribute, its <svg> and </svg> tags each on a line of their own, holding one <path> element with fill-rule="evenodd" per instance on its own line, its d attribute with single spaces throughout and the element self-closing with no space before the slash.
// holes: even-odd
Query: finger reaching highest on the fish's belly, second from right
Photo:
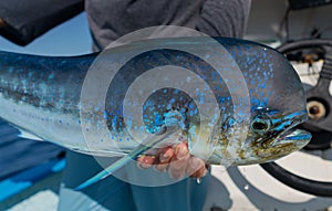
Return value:
<svg viewBox="0 0 332 211">
<path fill-rule="evenodd" d="M 181 143 L 175 147 L 175 152 L 168 166 L 168 173 L 174 179 L 180 179 L 186 176 L 186 169 L 189 160 L 188 146 Z"/>
</svg>

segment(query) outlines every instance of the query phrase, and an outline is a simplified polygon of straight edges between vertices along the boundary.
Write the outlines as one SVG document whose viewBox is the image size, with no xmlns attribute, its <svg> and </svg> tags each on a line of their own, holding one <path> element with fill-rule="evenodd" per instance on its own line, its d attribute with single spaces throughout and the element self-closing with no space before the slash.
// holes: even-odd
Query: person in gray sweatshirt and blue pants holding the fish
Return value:
<svg viewBox="0 0 332 211">
<path fill-rule="evenodd" d="M 81 0 L 50 0 L 19 3 L 2 1 L 0 33 L 24 45 L 54 25 L 83 10 Z M 248 20 L 250 0 L 94 0 L 85 1 L 93 51 L 136 30 L 155 25 L 179 25 L 210 36 L 241 38 Z M 179 138 L 179 137 L 177 137 Z M 186 139 L 137 158 L 142 169 L 168 171 L 174 179 L 191 178 L 165 187 L 138 187 L 108 177 L 82 191 L 73 190 L 102 170 L 92 156 L 68 150 L 59 210 L 188 210 L 200 211 L 209 182 L 208 165 L 189 155 Z M 102 158 L 101 158 L 102 159 Z M 117 160 L 118 158 L 114 159 Z M 200 183 L 193 178 L 203 178 Z M 190 190 L 190 192 L 188 192 Z"/>
</svg>

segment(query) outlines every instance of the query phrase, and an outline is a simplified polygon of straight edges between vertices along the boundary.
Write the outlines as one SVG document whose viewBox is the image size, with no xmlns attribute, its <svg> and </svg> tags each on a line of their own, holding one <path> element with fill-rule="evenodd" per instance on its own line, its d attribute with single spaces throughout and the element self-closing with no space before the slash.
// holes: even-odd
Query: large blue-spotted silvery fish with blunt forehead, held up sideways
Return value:
<svg viewBox="0 0 332 211">
<path fill-rule="evenodd" d="M 304 147 L 311 135 L 295 126 L 308 118 L 305 96 L 287 59 L 256 42 L 212 40 L 152 39 L 80 56 L 2 51 L 0 117 L 74 151 L 123 157 L 93 182 L 174 134 L 212 165 Z"/>
</svg>

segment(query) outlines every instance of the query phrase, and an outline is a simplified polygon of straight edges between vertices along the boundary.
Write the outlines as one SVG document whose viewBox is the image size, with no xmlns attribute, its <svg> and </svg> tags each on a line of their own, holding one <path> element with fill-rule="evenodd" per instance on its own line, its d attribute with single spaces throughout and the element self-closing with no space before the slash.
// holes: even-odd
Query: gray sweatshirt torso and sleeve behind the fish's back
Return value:
<svg viewBox="0 0 332 211">
<path fill-rule="evenodd" d="M 132 31 L 180 25 L 211 36 L 241 38 L 250 0 L 91 0 L 85 9 L 94 50 Z"/>
</svg>

